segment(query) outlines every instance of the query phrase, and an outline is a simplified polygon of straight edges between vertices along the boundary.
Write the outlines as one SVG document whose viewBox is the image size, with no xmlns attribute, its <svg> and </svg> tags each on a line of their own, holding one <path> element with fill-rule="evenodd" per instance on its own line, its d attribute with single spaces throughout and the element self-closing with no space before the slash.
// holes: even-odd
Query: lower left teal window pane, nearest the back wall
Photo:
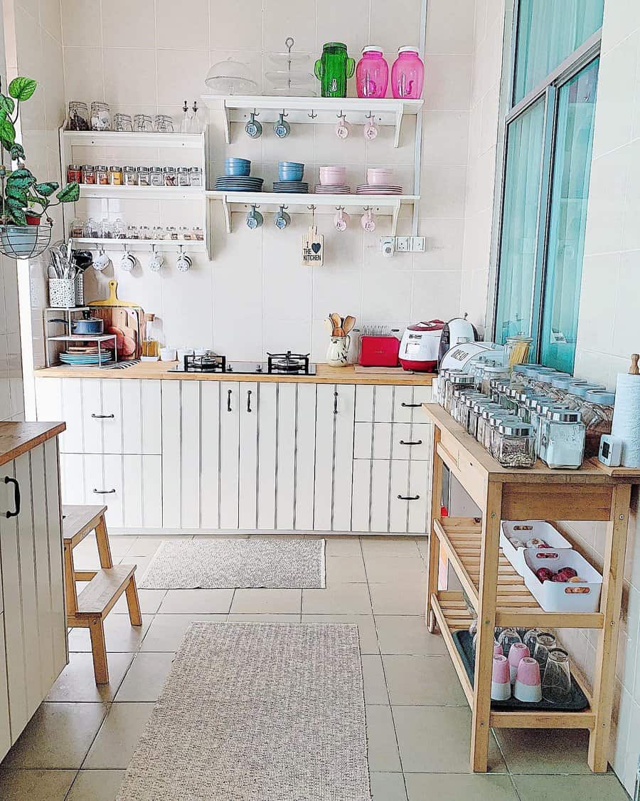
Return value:
<svg viewBox="0 0 640 801">
<path fill-rule="evenodd" d="M 498 272 L 496 341 L 531 333 L 544 99 L 510 123 Z"/>
</svg>

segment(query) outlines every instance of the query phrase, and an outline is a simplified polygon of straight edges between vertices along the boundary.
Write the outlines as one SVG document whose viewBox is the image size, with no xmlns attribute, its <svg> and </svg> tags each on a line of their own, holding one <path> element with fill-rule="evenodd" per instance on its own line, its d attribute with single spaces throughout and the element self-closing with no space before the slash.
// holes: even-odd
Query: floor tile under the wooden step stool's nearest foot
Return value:
<svg viewBox="0 0 640 801">
<path fill-rule="evenodd" d="M 46 701 L 112 701 L 125 677 L 134 654 L 109 654 L 109 684 L 96 684 L 91 654 L 70 653 L 69 664 L 51 687 Z"/>
</svg>

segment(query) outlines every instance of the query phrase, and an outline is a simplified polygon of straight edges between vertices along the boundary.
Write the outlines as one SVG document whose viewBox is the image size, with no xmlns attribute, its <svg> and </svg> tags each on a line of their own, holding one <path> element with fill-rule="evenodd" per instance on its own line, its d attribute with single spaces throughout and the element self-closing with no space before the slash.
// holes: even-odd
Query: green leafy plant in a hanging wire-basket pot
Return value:
<svg viewBox="0 0 640 801">
<path fill-rule="evenodd" d="M 78 183 L 67 183 L 61 189 L 56 181 L 38 182 L 26 167 L 22 144 L 15 140 L 20 103 L 30 99 L 36 87 L 33 78 L 14 78 L 9 95 L 3 95 L 0 83 L 0 146 L 18 165 L 8 171 L 0 164 L 0 252 L 14 259 L 39 256 L 51 240 L 54 221 L 48 210 L 61 203 L 75 203 L 80 196 Z M 45 224 L 41 224 L 43 218 Z"/>
</svg>

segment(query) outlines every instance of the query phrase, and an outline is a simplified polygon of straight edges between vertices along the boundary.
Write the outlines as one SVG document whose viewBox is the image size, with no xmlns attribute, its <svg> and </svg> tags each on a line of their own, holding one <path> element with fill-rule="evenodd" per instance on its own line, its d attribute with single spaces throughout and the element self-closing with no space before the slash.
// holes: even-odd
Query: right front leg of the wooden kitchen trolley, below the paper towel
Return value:
<svg viewBox="0 0 640 801">
<path fill-rule="evenodd" d="M 606 526 L 606 555 L 602 570 L 600 605 L 604 614 L 604 625 L 598 634 L 593 693 L 595 723 L 589 735 L 587 755 L 587 762 L 594 773 L 605 773 L 608 764 L 630 498 L 630 485 L 618 484 L 614 487 L 610 522 Z"/>
</svg>

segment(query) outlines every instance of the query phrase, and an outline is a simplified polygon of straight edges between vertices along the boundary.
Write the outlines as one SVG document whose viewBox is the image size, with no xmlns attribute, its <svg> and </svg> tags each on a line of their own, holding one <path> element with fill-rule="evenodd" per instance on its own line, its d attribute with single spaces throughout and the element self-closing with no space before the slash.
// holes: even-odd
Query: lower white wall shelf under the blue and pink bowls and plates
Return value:
<svg viewBox="0 0 640 801">
<path fill-rule="evenodd" d="M 278 192 L 221 192 L 208 191 L 206 196 L 222 203 L 226 232 L 231 233 L 231 212 L 249 211 L 251 206 L 272 207 L 276 211 L 285 206 L 290 213 L 310 214 L 311 207 L 318 214 L 334 214 L 338 207 L 345 209 L 370 208 L 374 214 L 391 215 L 391 236 L 395 236 L 398 215 L 402 206 L 418 203 L 418 195 L 297 195 Z"/>
</svg>

